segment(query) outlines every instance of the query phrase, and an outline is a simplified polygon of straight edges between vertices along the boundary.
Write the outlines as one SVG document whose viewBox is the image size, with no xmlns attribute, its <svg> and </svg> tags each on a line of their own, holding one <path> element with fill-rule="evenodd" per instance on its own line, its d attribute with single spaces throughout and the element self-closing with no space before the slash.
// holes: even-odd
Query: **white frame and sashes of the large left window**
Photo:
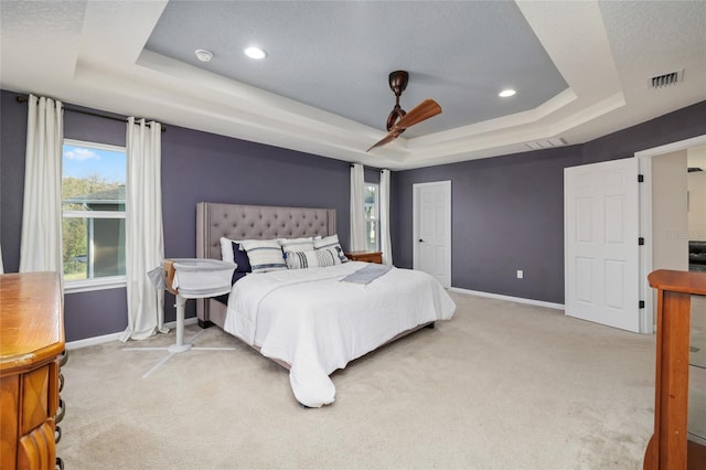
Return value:
<svg viewBox="0 0 706 470">
<path fill-rule="evenodd" d="M 100 142 L 89 142 L 86 140 L 78 139 L 64 139 L 62 142 L 62 159 L 64 146 L 74 146 L 74 147 L 84 147 L 96 150 L 106 150 L 111 152 L 121 152 L 126 157 L 126 165 L 127 165 L 127 147 L 125 146 L 114 146 L 109 143 L 100 143 Z M 64 179 L 64 171 L 62 169 L 62 184 Z M 126 181 L 127 188 L 127 181 Z M 62 199 L 62 221 L 64 218 L 116 218 L 116 220 L 127 220 L 127 204 L 125 211 L 64 211 L 63 210 L 63 199 Z M 62 250 L 63 250 L 63 238 L 62 238 Z M 126 254 L 127 257 L 127 254 Z M 86 263 L 89 263 L 88 260 Z M 127 259 L 126 259 L 127 263 Z M 128 285 L 127 276 L 104 276 L 98 278 L 90 279 L 74 279 L 67 280 L 64 278 L 64 274 L 62 273 L 62 279 L 64 281 L 64 292 L 65 293 L 74 293 L 74 292 L 88 292 L 94 290 L 107 290 L 107 289 L 118 289 L 125 288 Z"/>
</svg>

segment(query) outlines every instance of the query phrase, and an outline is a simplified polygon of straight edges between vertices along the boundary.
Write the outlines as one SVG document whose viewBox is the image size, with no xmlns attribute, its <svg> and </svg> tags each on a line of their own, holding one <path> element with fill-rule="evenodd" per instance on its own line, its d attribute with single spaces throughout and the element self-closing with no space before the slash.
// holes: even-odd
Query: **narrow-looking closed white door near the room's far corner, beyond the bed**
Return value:
<svg viewBox="0 0 706 470">
<path fill-rule="evenodd" d="M 451 287 L 451 182 L 415 184 L 414 268 Z"/>
</svg>

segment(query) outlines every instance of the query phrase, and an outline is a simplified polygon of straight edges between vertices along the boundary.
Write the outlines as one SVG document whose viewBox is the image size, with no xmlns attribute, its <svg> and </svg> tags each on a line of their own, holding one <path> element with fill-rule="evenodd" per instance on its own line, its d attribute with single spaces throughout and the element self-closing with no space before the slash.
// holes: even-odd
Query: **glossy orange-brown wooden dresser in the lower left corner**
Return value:
<svg viewBox="0 0 706 470">
<path fill-rule="evenodd" d="M 0 468 L 54 469 L 64 316 L 56 273 L 0 275 Z M 63 409 L 61 412 L 63 414 Z M 62 415 L 63 416 L 63 415 Z"/>
</svg>

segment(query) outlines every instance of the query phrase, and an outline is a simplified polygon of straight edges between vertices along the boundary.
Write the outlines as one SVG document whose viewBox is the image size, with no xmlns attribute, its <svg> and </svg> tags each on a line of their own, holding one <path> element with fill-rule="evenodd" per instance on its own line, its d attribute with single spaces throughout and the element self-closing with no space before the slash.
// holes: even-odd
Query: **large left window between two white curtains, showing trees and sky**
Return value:
<svg viewBox="0 0 706 470">
<path fill-rule="evenodd" d="M 64 140 L 62 217 L 67 290 L 125 285 L 124 147 Z"/>
</svg>

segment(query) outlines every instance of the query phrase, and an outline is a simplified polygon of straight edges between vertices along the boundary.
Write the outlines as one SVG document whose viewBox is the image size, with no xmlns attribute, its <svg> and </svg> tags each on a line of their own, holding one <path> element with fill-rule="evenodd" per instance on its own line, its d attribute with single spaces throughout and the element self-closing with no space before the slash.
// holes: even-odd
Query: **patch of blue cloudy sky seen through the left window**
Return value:
<svg viewBox="0 0 706 470">
<path fill-rule="evenodd" d="M 64 145 L 64 178 L 98 177 L 108 183 L 125 184 L 125 152 Z"/>
</svg>

